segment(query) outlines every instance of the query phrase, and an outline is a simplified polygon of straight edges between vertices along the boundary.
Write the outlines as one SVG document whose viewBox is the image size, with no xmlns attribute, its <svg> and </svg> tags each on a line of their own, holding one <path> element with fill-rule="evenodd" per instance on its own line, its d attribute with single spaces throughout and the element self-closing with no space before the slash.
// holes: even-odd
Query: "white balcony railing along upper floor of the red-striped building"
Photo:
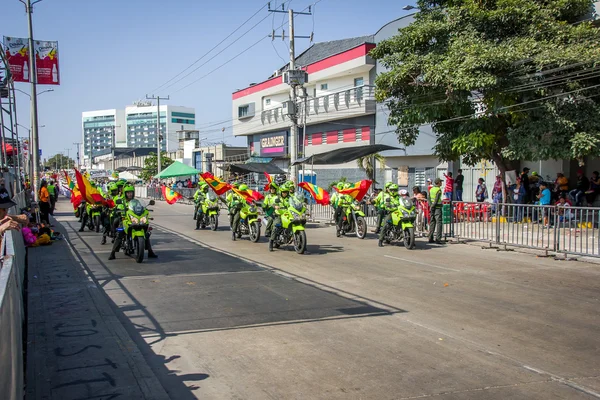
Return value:
<svg viewBox="0 0 600 400">
<path fill-rule="evenodd" d="M 366 102 L 375 100 L 375 86 L 363 85 L 338 92 L 328 93 L 306 101 L 307 116 L 362 109 Z M 301 105 L 300 111 L 303 106 Z M 287 109 L 283 107 L 264 110 L 260 114 L 263 125 L 289 121 Z"/>
</svg>

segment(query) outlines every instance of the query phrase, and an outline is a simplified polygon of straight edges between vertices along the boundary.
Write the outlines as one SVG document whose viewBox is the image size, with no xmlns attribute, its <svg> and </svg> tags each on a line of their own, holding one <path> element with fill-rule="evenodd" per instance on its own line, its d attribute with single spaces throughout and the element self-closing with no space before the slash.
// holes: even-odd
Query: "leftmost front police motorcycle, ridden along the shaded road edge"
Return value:
<svg viewBox="0 0 600 400">
<path fill-rule="evenodd" d="M 156 204 L 150 200 L 148 205 Z M 133 199 L 129 202 L 125 215 L 123 216 L 123 225 L 117 228 L 117 231 L 124 232 L 123 252 L 127 256 L 133 256 L 137 263 L 144 261 L 144 251 L 146 250 L 146 240 L 150 240 L 152 228 L 149 223 L 153 218 L 146 207 L 138 200 Z"/>
</svg>

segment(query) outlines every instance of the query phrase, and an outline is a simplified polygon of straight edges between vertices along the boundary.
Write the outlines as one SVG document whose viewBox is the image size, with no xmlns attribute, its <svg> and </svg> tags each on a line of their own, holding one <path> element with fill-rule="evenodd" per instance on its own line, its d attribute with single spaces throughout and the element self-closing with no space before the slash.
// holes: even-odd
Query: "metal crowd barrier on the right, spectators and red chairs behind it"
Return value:
<svg viewBox="0 0 600 400">
<path fill-rule="evenodd" d="M 448 237 L 555 254 L 600 257 L 600 208 L 452 203 Z"/>
</svg>

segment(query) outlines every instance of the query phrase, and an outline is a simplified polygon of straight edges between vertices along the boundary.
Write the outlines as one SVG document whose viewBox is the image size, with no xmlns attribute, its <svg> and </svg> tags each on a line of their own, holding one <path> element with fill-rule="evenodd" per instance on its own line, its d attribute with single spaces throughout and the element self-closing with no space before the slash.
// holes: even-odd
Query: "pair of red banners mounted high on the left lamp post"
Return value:
<svg viewBox="0 0 600 400">
<path fill-rule="evenodd" d="M 15 82 L 30 82 L 29 43 L 27 38 L 4 37 L 6 58 Z M 37 83 L 59 85 L 58 42 L 36 40 L 33 42 Z"/>
</svg>

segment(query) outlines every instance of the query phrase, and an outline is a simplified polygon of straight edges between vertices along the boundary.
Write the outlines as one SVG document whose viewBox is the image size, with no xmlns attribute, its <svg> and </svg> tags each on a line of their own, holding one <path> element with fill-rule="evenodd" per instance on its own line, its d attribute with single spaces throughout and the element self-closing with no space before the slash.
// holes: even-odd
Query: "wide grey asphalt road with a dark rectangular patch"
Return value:
<svg viewBox="0 0 600 400">
<path fill-rule="evenodd" d="M 600 398 L 597 265 L 319 225 L 269 253 L 152 208 L 143 264 L 58 220 L 173 399 Z"/>
</svg>

